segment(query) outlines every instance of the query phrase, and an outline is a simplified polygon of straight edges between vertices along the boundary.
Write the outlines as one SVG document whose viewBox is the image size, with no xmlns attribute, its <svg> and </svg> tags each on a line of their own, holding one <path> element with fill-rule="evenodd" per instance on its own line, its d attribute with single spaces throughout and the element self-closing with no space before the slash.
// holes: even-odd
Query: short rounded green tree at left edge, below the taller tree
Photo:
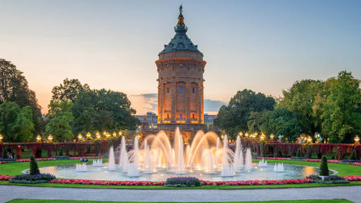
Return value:
<svg viewBox="0 0 361 203">
<path fill-rule="evenodd" d="M 32 139 L 34 124 L 30 107 L 5 101 L 0 105 L 0 132 L 5 142 L 28 142 Z"/>
</svg>

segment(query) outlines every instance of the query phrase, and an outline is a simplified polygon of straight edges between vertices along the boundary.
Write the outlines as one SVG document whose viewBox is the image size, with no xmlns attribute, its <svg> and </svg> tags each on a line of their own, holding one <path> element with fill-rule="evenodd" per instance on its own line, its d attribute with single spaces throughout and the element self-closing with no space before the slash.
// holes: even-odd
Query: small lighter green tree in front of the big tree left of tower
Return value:
<svg viewBox="0 0 361 203">
<path fill-rule="evenodd" d="M 47 115 L 49 123 L 45 130 L 47 134 L 53 135 L 53 141 L 71 141 L 73 139 L 72 127 L 69 124 L 74 120 L 74 116 L 70 112 L 72 105 L 67 100 L 50 102 Z"/>
</svg>

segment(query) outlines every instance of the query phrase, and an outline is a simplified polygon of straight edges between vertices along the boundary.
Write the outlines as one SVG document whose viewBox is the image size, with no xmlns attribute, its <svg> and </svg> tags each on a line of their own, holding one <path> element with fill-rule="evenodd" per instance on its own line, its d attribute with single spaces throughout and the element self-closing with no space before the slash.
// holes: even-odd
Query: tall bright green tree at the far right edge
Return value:
<svg viewBox="0 0 361 203">
<path fill-rule="evenodd" d="M 331 143 L 352 142 L 352 136 L 360 133 L 361 92 L 360 80 L 347 71 L 341 71 L 331 80 L 322 118 L 322 132 L 328 134 Z"/>
</svg>

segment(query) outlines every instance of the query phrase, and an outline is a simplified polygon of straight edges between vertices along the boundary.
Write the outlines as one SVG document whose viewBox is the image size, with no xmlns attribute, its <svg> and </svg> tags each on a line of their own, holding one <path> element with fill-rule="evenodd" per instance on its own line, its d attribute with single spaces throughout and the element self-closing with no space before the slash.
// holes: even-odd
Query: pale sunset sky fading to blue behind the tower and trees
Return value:
<svg viewBox="0 0 361 203">
<path fill-rule="evenodd" d="M 238 90 L 282 96 L 296 80 L 342 70 L 361 78 L 361 1 L 0 0 L 0 58 L 10 60 L 47 112 L 51 89 L 78 78 L 156 112 L 158 53 L 183 3 L 187 35 L 207 62 L 205 112 Z"/>
</svg>

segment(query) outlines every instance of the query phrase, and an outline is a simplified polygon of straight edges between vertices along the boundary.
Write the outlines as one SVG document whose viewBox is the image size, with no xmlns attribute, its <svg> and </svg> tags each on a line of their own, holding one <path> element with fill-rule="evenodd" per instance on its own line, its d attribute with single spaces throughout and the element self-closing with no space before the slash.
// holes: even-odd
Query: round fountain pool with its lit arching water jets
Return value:
<svg viewBox="0 0 361 203">
<path fill-rule="evenodd" d="M 246 151 L 244 153 L 244 150 Z M 115 165 L 115 154 L 119 154 L 119 164 Z M 245 156 L 244 156 L 245 154 Z M 242 146 L 237 137 L 235 152 L 228 148 L 225 135 L 223 145 L 214 132 L 197 132 L 190 145 L 185 145 L 181 132 L 177 129 L 171 144 L 165 132 L 146 136 L 142 144 L 134 139 L 133 150 L 126 150 L 124 137 L 120 152 L 110 148 L 108 163 L 93 162 L 93 166 L 74 165 L 49 166 L 40 168 L 42 173 L 52 173 L 56 177 L 74 179 L 104 180 L 147 180 L 164 181 L 167 177 L 194 176 L 199 179 L 221 181 L 242 179 L 294 179 L 317 174 L 318 168 L 309 166 L 282 165 L 284 173 L 277 173 L 281 166 L 266 164 L 267 161 L 252 163 L 250 148 Z M 267 167 L 269 165 L 270 167 Z M 82 167 L 87 167 L 86 170 Z M 275 167 L 277 170 L 274 170 Z M 87 171 L 76 173 L 76 171 Z"/>
</svg>

